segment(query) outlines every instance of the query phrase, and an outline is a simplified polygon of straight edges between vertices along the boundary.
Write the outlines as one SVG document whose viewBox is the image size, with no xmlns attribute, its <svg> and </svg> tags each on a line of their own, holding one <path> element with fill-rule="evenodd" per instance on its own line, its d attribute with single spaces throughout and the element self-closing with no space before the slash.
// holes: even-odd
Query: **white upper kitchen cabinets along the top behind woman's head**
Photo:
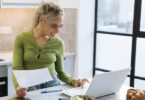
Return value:
<svg viewBox="0 0 145 100">
<path fill-rule="evenodd" d="M 78 8 L 79 0 L 0 0 L 0 8 L 38 8 L 44 2 L 57 2 L 63 8 Z"/>
</svg>

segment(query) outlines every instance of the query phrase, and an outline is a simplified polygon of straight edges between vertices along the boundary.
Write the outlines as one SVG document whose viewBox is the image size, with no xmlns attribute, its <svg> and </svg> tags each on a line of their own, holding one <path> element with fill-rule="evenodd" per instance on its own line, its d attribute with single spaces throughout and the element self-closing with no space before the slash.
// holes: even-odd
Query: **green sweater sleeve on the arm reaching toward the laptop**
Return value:
<svg viewBox="0 0 145 100">
<path fill-rule="evenodd" d="M 64 72 L 63 58 L 64 58 L 64 44 L 63 41 L 61 41 L 59 52 L 57 55 L 57 60 L 55 63 L 55 67 L 56 67 L 55 69 L 58 73 L 58 78 L 60 80 L 62 80 L 63 82 L 71 86 L 74 86 L 75 79 L 70 77 L 67 73 Z"/>
</svg>

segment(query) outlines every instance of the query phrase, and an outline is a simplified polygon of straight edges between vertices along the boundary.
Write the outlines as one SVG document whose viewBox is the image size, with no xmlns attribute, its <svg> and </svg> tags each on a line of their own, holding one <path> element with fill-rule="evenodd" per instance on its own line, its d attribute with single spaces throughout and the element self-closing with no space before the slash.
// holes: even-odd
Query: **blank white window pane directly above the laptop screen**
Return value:
<svg viewBox="0 0 145 100">
<path fill-rule="evenodd" d="M 107 70 L 130 67 L 131 43 L 131 37 L 98 33 L 96 67 Z"/>
</svg>

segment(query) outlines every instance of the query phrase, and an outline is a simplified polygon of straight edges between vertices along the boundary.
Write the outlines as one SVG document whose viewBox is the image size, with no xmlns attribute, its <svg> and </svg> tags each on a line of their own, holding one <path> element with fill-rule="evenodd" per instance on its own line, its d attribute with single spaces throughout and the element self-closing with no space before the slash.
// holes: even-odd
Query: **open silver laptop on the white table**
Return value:
<svg viewBox="0 0 145 100">
<path fill-rule="evenodd" d="M 62 93 L 68 96 L 89 95 L 102 97 L 118 92 L 125 81 L 130 68 L 96 74 L 89 86 L 85 88 L 72 88 L 63 90 Z"/>
</svg>

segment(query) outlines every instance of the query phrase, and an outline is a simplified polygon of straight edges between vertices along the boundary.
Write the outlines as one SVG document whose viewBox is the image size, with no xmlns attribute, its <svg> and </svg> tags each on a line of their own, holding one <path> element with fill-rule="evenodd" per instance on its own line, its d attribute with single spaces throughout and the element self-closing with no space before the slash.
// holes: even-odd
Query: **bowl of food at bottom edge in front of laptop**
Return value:
<svg viewBox="0 0 145 100">
<path fill-rule="evenodd" d="M 76 96 L 71 97 L 70 100 L 96 100 L 96 99 L 88 95 L 76 95 Z"/>
</svg>

